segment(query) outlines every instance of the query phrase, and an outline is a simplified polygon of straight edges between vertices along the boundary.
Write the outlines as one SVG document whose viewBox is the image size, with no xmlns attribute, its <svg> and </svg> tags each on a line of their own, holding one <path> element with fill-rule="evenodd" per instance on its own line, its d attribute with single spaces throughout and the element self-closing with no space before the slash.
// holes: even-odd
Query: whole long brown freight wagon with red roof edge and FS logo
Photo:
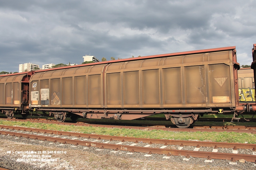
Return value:
<svg viewBox="0 0 256 170">
<path fill-rule="evenodd" d="M 235 47 L 226 47 L 39 70 L 30 107 L 60 122 L 67 113 L 123 120 L 164 113 L 186 128 L 199 114 L 254 109 L 239 105 L 238 69 Z"/>
</svg>

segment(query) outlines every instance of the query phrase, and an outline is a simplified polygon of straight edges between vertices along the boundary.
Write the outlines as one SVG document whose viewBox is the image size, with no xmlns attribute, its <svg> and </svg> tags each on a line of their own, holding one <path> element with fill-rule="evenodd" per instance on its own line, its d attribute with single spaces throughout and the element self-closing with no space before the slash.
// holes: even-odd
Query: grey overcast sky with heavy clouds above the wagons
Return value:
<svg viewBox="0 0 256 170">
<path fill-rule="evenodd" d="M 0 71 L 236 46 L 251 65 L 255 0 L 0 0 Z"/>
</svg>

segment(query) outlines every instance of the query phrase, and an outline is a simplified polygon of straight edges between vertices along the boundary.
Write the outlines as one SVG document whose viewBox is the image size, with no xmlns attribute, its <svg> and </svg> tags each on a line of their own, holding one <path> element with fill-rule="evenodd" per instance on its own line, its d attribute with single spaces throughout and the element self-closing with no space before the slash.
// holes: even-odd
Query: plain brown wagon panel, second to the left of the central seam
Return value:
<svg viewBox="0 0 256 170">
<path fill-rule="evenodd" d="M 75 77 L 75 105 L 86 105 L 86 76 Z"/>
</svg>

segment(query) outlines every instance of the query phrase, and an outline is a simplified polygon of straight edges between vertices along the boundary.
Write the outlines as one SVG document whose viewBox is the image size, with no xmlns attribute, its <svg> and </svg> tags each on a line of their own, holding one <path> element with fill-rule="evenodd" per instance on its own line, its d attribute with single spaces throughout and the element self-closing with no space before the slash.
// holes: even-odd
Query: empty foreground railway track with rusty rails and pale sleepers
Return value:
<svg viewBox="0 0 256 170">
<path fill-rule="evenodd" d="M 0 125 L 0 127 L 1 137 L 10 135 L 16 139 L 26 138 L 29 140 L 42 140 L 43 142 L 51 142 L 51 144 L 58 142 L 60 143 L 59 145 L 82 145 L 85 146 L 84 149 L 95 147 L 99 148 L 99 151 L 103 149 L 110 149 L 110 152 L 118 152 L 120 150 L 126 151 L 127 154 L 133 154 L 134 152 L 147 153 L 144 156 L 164 154 L 165 156 L 163 158 L 166 159 L 170 158 L 171 155 L 185 156 L 186 158 L 184 159 L 190 159 L 190 157 L 205 158 L 205 162 L 211 162 L 212 159 L 227 159 L 230 160 L 230 164 L 235 164 L 236 160 L 241 159 L 248 162 L 256 161 L 256 144 L 146 139 L 82 134 L 4 125 Z M 222 152 L 223 148 L 230 152 Z M 249 154 L 245 154 L 247 152 L 249 152 Z"/>
</svg>

